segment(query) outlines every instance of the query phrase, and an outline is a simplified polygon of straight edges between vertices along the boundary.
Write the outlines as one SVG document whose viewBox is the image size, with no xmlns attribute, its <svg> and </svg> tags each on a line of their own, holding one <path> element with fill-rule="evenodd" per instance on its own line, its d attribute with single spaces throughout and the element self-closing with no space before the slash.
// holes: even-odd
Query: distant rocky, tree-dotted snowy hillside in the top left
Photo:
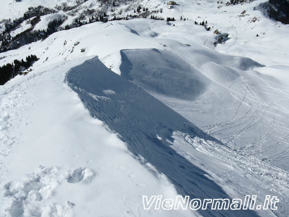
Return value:
<svg viewBox="0 0 289 217">
<path fill-rule="evenodd" d="M 15 6 L 26 8 L 26 1 L 13 2 Z M 129 3 L 128 3 L 129 2 Z M 13 3 L 9 3 L 11 7 Z M 84 24 L 108 20 L 147 17 L 151 10 L 141 6 L 139 1 L 109 2 L 97 0 L 60 1 L 58 4 L 30 2 L 29 7 L 14 19 L 4 18 L 0 21 L 0 52 L 17 49 L 25 44 L 43 40 L 50 34 L 79 27 Z M 14 5 L 13 4 L 13 5 Z M 44 5 L 44 6 L 43 6 Z M 150 8 L 151 9 L 151 8 Z M 22 11 L 22 10 L 21 10 Z M 5 11 L 4 14 L 7 14 Z M 20 13 L 20 10 L 19 10 Z M 8 15 L 7 15 L 8 16 Z"/>
</svg>

